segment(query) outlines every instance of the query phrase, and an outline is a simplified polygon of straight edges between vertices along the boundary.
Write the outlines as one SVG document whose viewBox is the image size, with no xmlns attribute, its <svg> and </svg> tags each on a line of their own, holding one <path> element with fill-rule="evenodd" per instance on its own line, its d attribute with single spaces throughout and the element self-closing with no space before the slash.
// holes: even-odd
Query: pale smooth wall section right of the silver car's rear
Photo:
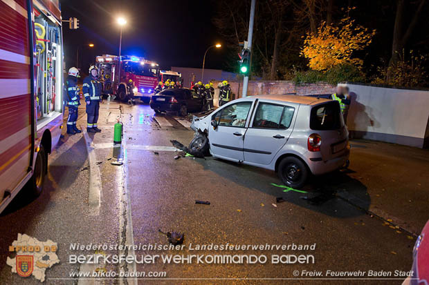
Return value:
<svg viewBox="0 0 429 285">
<path fill-rule="evenodd" d="M 351 137 L 428 147 L 429 91 L 347 84 Z"/>
</svg>

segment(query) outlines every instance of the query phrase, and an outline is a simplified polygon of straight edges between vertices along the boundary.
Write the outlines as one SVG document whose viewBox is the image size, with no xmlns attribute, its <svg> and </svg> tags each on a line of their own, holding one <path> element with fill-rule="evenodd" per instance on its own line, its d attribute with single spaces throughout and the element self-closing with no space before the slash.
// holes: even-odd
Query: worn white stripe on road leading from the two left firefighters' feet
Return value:
<svg viewBox="0 0 429 285">
<path fill-rule="evenodd" d="M 89 138 L 86 128 L 81 126 L 81 129 L 85 139 L 89 162 L 89 207 L 93 210 L 94 215 L 99 215 L 102 189 L 100 166 L 97 164 L 93 141 Z"/>
</svg>

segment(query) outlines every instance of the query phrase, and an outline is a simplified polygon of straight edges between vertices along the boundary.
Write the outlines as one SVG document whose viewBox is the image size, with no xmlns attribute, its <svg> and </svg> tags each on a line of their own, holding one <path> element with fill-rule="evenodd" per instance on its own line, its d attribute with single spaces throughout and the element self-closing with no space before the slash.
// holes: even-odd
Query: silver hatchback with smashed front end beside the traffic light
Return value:
<svg viewBox="0 0 429 285">
<path fill-rule="evenodd" d="M 338 101 L 261 95 L 231 101 L 194 117 L 190 149 L 274 170 L 286 186 L 301 188 L 310 174 L 348 164 L 349 132 Z"/>
</svg>

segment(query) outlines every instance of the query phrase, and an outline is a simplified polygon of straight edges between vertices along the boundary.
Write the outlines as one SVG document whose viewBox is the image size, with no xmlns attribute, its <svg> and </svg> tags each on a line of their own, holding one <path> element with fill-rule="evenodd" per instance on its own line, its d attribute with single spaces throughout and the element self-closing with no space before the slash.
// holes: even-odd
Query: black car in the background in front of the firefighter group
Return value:
<svg viewBox="0 0 429 285">
<path fill-rule="evenodd" d="M 188 112 L 201 112 L 204 99 L 194 90 L 188 88 L 171 88 L 153 95 L 150 99 L 150 108 L 155 112 L 178 112 L 180 116 Z"/>
</svg>

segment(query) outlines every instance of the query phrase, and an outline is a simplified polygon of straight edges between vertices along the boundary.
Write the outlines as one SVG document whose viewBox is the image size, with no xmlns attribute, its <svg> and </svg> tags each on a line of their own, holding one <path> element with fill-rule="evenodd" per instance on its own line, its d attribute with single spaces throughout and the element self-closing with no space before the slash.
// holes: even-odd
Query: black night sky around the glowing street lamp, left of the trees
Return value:
<svg viewBox="0 0 429 285">
<path fill-rule="evenodd" d="M 118 55 L 119 16 L 127 19 L 122 32 L 122 55 L 137 55 L 156 61 L 162 69 L 171 66 L 201 68 L 208 46 L 222 43 L 212 25 L 210 1 L 165 0 L 64 0 L 62 17 L 76 17 L 80 28 L 64 23 L 66 68 L 75 66 L 80 47 L 80 68 L 85 72 L 97 55 Z M 88 48 L 94 43 L 94 48 Z M 212 49 L 206 68 L 223 66 L 226 50 Z M 237 58 L 238 59 L 238 58 Z"/>
</svg>

